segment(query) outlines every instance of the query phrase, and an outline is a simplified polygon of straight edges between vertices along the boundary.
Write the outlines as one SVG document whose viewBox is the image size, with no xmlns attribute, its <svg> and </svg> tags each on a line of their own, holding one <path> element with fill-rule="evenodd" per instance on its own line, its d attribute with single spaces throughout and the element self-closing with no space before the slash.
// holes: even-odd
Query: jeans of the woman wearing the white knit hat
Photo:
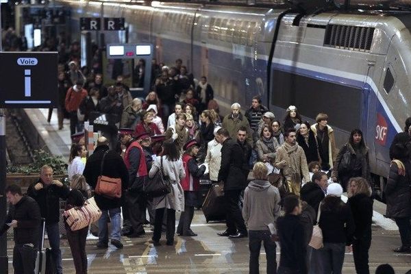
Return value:
<svg viewBox="0 0 411 274">
<path fill-rule="evenodd" d="M 345 256 L 345 242 L 324 242 L 324 247 L 319 249 L 319 255 L 324 274 L 341 274 Z"/>
</svg>

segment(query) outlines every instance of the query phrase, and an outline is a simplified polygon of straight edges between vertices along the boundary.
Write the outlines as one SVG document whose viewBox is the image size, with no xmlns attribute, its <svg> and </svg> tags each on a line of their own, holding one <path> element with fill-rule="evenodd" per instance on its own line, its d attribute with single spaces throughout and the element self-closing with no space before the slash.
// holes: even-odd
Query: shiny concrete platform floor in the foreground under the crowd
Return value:
<svg viewBox="0 0 411 274">
<path fill-rule="evenodd" d="M 177 217 L 178 220 L 178 217 Z M 175 236 L 174 247 L 165 245 L 162 238 L 160 247 L 149 243 L 152 232 L 146 229 L 141 238 L 123 237 L 123 249 L 109 245 L 108 249 L 97 249 L 97 240 L 88 240 L 89 274 L 137 274 L 137 273 L 248 273 L 248 238 L 229 239 L 217 236 L 225 229 L 224 223 L 206 223 L 200 210 L 196 210 L 192 230 L 197 237 Z M 47 242 L 47 241 L 46 241 Z M 65 274 L 74 274 L 75 269 L 67 240 L 62 240 L 62 257 Z M 370 269 L 373 273 L 379 264 L 390 263 L 395 273 L 403 274 L 411 269 L 411 254 L 396 254 L 391 251 L 399 245 L 397 230 L 385 230 L 373 226 L 373 241 L 370 250 Z M 12 246 L 8 242 L 9 273 L 12 272 Z M 260 271 L 265 273 L 264 248 L 260 257 Z M 277 261 L 279 248 L 277 247 Z M 344 274 L 356 273 L 352 253 L 346 253 Z"/>
</svg>

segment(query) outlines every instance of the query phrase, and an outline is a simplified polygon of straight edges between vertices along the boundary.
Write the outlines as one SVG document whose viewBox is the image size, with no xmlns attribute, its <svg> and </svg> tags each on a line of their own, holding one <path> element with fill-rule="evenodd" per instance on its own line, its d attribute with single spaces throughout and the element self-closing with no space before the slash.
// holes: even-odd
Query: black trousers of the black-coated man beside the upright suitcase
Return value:
<svg viewBox="0 0 411 274">
<path fill-rule="evenodd" d="M 236 234 L 238 232 L 247 235 L 244 219 L 240 210 L 240 189 L 224 190 L 227 232 Z"/>
</svg>

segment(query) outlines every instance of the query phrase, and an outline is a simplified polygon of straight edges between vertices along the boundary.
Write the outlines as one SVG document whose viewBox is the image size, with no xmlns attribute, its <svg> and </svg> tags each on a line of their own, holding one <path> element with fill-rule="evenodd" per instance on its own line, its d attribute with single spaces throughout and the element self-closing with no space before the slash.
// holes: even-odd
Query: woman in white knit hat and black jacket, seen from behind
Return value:
<svg viewBox="0 0 411 274">
<path fill-rule="evenodd" d="M 318 252 L 319 262 L 312 262 L 313 267 L 322 267 L 314 273 L 341 274 L 345 256 L 345 245 L 352 241 L 355 225 L 349 206 L 342 200 L 343 188 L 340 184 L 329 184 L 327 196 L 321 202 L 319 226 L 323 232 L 323 245 Z"/>
</svg>

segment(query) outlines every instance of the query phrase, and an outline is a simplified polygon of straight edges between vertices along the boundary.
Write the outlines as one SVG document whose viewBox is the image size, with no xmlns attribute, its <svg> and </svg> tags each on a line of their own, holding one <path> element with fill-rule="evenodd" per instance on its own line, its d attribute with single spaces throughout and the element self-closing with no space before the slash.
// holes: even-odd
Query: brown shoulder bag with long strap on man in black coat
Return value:
<svg viewBox="0 0 411 274">
<path fill-rule="evenodd" d="M 100 175 L 97 178 L 95 192 L 108 199 L 119 199 L 121 198 L 121 178 L 112 178 L 101 174 L 103 173 L 104 158 L 107 153 L 108 151 L 105 151 L 101 161 Z"/>
</svg>

